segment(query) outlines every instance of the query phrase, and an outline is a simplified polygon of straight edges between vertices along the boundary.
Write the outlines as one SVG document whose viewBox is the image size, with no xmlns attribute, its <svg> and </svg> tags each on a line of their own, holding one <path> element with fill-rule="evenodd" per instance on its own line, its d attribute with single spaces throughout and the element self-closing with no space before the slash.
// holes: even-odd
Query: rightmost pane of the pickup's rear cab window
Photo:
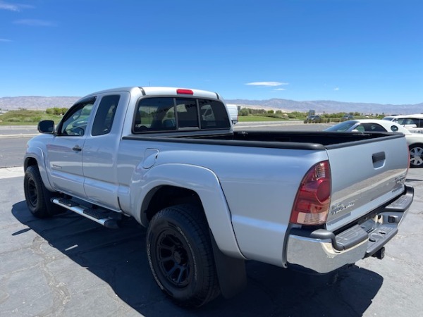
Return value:
<svg viewBox="0 0 423 317">
<path fill-rule="evenodd" d="M 220 101 L 198 100 L 200 106 L 201 128 L 202 129 L 223 129 L 230 128 L 228 111 Z"/>
</svg>

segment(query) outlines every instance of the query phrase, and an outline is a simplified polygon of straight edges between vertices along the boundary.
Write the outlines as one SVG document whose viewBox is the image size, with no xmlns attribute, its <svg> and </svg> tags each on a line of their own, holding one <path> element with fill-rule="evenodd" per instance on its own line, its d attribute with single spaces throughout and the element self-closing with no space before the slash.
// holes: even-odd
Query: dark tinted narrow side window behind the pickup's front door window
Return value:
<svg viewBox="0 0 423 317">
<path fill-rule="evenodd" d="M 102 98 L 92 124 L 91 135 L 106 135 L 110 132 L 120 98 L 118 94 Z"/>
</svg>

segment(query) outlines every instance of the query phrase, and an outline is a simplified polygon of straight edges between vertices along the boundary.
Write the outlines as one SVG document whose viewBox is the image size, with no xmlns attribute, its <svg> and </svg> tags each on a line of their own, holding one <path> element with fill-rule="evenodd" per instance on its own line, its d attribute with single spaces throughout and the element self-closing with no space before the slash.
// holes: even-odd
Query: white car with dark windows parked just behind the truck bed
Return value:
<svg viewBox="0 0 423 317">
<path fill-rule="evenodd" d="M 360 119 L 348 120 L 327 128 L 325 131 L 331 132 L 400 132 L 407 139 L 408 149 L 410 149 L 410 166 L 423 166 L 423 134 L 412 133 L 403 125 L 390 120 Z"/>
</svg>

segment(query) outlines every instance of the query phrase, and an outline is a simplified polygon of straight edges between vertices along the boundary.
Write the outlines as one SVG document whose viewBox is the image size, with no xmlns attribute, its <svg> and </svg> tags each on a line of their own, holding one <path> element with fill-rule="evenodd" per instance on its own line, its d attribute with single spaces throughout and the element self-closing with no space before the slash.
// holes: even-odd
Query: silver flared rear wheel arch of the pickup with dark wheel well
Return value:
<svg viewBox="0 0 423 317">
<path fill-rule="evenodd" d="M 141 176 L 140 176 L 141 178 Z M 233 231 L 231 212 L 219 179 L 212 170 L 188 164 L 163 164 L 142 175 L 143 186 L 133 180 L 130 189 L 135 214 L 146 227 L 155 213 L 167 206 L 194 204 L 204 211 L 209 229 L 224 254 L 245 259 Z M 163 207 L 163 208 L 161 208 Z"/>
</svg>

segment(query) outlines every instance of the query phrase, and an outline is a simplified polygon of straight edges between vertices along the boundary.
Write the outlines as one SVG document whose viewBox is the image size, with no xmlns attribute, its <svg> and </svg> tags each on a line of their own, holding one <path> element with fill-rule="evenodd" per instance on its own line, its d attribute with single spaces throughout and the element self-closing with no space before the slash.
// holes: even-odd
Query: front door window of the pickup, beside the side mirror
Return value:
<svg viewBox="0 0 423 317">
<path fill-rule="evenodd" d="M 58 134 L 71 136 L 85 135 L 94 102 L 95 97 L 75 104 L 63 117 L 58 127 Z"/>
</svg>

